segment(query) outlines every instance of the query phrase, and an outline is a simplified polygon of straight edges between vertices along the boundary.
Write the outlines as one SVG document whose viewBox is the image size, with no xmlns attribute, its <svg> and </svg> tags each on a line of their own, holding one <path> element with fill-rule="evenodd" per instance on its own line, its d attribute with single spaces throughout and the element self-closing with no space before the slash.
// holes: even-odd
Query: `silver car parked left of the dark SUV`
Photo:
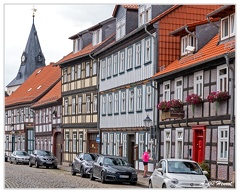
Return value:
<svg viewBox="0 0 240 193">
<path fill-rule="evenodd" d="M 21 164 L 28 164 L 29 163 L 30 155 L 26 151 L 14 151 L 9 156 L 9 163 L 21 163 Z"/>
</svg>

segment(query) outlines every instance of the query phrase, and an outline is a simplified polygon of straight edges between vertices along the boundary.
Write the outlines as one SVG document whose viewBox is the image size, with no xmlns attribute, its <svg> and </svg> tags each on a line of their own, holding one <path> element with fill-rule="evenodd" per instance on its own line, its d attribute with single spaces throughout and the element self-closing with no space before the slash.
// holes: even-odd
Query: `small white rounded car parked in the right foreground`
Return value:
<svg viewBox="0 0 240 193">
<path fill-rule="evenodd" d="M 209 188 L 197 162 L 187 159 L 162 159 L 149 178 L 149 188 Z"/>
</svg>

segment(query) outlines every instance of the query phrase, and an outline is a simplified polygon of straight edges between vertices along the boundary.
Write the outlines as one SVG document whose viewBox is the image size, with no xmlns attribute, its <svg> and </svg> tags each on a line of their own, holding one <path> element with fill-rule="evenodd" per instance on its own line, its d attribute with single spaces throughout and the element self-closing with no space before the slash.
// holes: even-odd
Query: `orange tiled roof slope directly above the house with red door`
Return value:
<svg viewBox="0 0 240 193">
<path fill-rule="evenodd" d="M 175 60 L 169 64 L 164 70 L 156 73 L 152 78 L 156 79 L 161 75 L 181 70 L 191 65 L 201 63 L 207 60 L 212 60 L 218 56 L 222 56 L 228 52 L 235 51 L 235 40 L 228 41 L 224 44 L 218 45 L 218 34 L 210 40 L 202 49 L 195 54 L 182 57 L 180 60 Z"/>
</svg>

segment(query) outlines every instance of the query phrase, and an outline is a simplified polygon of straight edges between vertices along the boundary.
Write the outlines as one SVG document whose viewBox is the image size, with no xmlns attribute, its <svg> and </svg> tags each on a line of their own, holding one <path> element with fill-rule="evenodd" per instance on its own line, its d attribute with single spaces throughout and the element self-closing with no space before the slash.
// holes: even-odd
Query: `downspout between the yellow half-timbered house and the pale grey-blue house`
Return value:
<svg viewBox="0 0 240 193">
<path fill-rule="evenodd" d="M 98 145 L 98 153 L 101 154 L 101 131 L 100 131 L 100 92 L 99 92 L 99 60 L 96 60 L 94 57 L 92 57 L 91 54 L 88 54 L 89 57 L 93 60 L 96 61 L 96 71 L 97 71 L 97 130 L 98 130 L 98 135 L 99 135 L 99 145 Z"/>
</svg>

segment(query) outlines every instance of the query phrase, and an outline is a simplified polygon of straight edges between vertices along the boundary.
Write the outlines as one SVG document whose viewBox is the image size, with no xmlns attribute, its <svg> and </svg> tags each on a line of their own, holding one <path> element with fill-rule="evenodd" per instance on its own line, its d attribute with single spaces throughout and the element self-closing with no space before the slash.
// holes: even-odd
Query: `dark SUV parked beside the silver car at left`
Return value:
<svg viewBox="0 0 240 193">
<path fill-rule="evenodd" d="M 30 155 L 29 167 L 35 165 L 36 168 L 39 166 L 46 166 L 46 168 L 53 167 L 57 168 L 58 160 L 50 151 L 45 150 L 34 150 Z"/>
</svg>

